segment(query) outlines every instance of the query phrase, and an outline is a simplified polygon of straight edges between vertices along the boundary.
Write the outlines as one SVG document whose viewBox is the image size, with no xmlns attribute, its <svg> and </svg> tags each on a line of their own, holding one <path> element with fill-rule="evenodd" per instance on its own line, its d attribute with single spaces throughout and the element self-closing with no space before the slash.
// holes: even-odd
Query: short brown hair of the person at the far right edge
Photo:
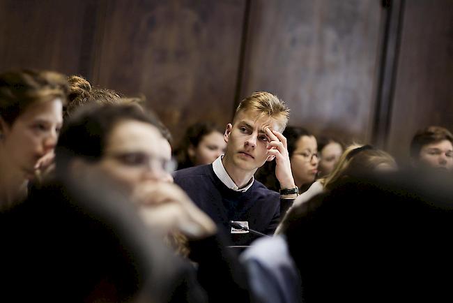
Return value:
<svg viewBox="0 0 453 303">
<path fill-rule="evenodd" d="M 426 128 L 422 128 L 415 133 L 412 141 L 410 142 L 410 156 L 412 158 L 418 158 L 424 145 L 437 143 L 443 140 L 448 140 L 453 144 L 453 135 L 447 130 L 447 128 L 440 126 L 428 126 Z"/>
</svg>

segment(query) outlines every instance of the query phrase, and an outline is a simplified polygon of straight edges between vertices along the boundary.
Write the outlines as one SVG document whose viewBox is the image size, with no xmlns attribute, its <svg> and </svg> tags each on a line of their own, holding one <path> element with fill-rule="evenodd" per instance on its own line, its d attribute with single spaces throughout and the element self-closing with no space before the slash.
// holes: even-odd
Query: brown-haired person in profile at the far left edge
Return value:
<svg viewBox="0 0 453 303">
<path fill-rule="evenodd" d="M 24 199 L 29 181 L 52 162 L 67 98 L 68 82 L 59 73 L 0 75 L 0 209 Z"/>
</svg>

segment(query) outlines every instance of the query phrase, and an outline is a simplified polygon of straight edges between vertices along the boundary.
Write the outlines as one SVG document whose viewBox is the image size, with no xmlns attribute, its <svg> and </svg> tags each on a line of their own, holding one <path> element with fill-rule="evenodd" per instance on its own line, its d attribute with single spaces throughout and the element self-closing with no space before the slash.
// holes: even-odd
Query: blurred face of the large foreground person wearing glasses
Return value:
<svg viewBox="0 0 453 303">
<path fill-rule="evenodd" d="M 146 182 L 171 182 L 171 147 L 158 128 L 141 121 L 121 121 L 109 134 L 95 165 L 132 193 Z"/>
</svg>

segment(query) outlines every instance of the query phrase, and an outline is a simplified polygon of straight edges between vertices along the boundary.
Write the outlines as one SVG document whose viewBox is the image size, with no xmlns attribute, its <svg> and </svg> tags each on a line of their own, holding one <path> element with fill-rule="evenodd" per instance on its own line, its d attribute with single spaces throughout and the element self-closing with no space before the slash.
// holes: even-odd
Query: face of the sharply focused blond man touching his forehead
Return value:
<svg viewBox="0 0 453 303">
<path fill-rule="evenodd" d="M 226 156 L 235 168 L 254 172 L 271 158 L 268 154 L 269 138 L 266 128 L 278 131 L 277 121 L 271 117 L 256 119 L 251 111 L 239 112 L 228 124 L 224 138 L 227 141 Z"/>
</svg>

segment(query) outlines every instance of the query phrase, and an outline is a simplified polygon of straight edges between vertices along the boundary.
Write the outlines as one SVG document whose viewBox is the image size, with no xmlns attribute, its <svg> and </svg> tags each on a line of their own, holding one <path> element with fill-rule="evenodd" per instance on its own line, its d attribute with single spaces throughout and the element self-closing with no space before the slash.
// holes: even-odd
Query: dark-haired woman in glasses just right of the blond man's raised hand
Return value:
<svg viewBox="0 0 453 303">
<path fill-rule="evenodd" d="M 288 145 L 295 185 L 299 193 L 306 191 L 316 178 L 318 172 L 318 147 L 316 138 L 305 128 L 288 126 L 283 132 Z M 256 179 L 263 182 L 268 189 L 279 191 L 280 184 L 275 178 L 275 163 L 263 165 L 256 173 Z"/>
</svg>

